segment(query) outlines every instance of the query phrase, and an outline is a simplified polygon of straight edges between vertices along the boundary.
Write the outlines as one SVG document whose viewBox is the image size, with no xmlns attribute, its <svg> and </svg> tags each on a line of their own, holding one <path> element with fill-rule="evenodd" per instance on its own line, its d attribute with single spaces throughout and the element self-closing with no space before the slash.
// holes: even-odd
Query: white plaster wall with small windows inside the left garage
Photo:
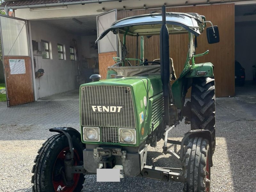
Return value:
<svg viewBox="0 0 256 192">
<path fill-rule="evenodd" d="M 75 89 L 77 67 L 76 61 L 70 60 L 69 46 L 74 46 L 72 41 L 76 39 L 78 53 L 81 49 L 81 39 L 72 34 L 68 34 L 54 26 L 49 26 L 42 21 L 31 21 L 32 40 L 45 40 L 50 42 L 51 59 L 43 59 L 42 56 L 34 55 L 36 59 L 36 69 L 44 69 L 44 75 L 36 78 L 37 99 L 52 94 Z M 66 60 L 58 59 L 57 43 L 66 47 Z"/>
</svg>

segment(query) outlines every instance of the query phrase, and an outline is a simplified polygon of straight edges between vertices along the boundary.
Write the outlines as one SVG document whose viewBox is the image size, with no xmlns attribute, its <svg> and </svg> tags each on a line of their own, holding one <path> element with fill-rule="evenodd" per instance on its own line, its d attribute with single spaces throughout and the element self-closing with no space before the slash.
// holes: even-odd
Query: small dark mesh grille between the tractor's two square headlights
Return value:
<svg viewBox="0 0 256 192">
<path fill-rule="evenodd" d="M 118 128 L 101 127 L 101 142 L 103 143 L 118 143 Z"/>
</svg>

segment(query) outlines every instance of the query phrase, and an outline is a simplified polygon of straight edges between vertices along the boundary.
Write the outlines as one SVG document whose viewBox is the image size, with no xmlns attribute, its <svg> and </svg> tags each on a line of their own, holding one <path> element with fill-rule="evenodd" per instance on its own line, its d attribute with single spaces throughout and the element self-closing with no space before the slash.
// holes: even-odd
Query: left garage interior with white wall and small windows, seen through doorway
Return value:
<svg viewBox="0 0 256 192">
<path fill-rule="evenodd" d="M 48 47 L 33 48 L 38 101 L 78 100 L 78 74 L 90 82 L 99 73 L 96 16 L 31 20 L 30 26 L 32 42 Z"/>
</svg>

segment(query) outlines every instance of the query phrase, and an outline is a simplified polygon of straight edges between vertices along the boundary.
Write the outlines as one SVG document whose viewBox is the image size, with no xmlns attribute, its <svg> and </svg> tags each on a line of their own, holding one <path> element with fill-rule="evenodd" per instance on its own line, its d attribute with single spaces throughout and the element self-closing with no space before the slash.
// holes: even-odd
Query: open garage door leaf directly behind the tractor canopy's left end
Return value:
<svg viewBox="0 0 256 192">
<path fill-rule="evenodd" d="M 97 16 L 97 34 L 98 37 L 107 30 L 112 23 L 117 20 L 116 9 L 102 13 Z M 99 50 L 99 71 L 105 79 L 107 76 L 107 67 L 114 64 L 113 57 L 117 56 L 117 37 L 109 32 L 105 38 L 98 41 Z"/>
</svg>

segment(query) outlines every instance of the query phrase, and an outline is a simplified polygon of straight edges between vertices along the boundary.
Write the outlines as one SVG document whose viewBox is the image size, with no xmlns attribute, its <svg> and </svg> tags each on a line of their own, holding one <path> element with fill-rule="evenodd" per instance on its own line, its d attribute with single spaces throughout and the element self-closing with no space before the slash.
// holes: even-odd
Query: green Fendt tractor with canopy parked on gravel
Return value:
<svg viewBox="0 0 256 192">
<path fill-rule="evenodd" d="M 84 176 L 97 172 L 97 179 L 104 176 L 107 180 L 110 175 L 119 180 L 124 176 L 147 177 L 182 182 L 186 192 L 210 191 L 215 148 L 213 65 L 195 63 L 196 57 L 209 52 L 195 53 L 195 38 L 207 22 L 211 24 L 206 28 L 208 43 L 218 43 L 218 27 L 204 16 L 165 12 L 165 6 L 162 12 L 118 20 L 104 31 L 97 41 L 110 31 L 116 34 L 118 58 L 113 58 L 115 64 L 108 67 L 107 79 L 100 80 L 101 76 L 94 74 L 92 82 L 80 86 L 81 134 L 71 127 L 50 129 L 58 134 L 38 151 L 32 170 L 33 191 L 80 192 Z M 185 33 L 188 55 L 176 79 L 169 56 L 169 35 Z M 160 59 L 148 61 L 143 59 L 143 38 L 154 35 L 160 35 Z M 137 58 L 127 58 L 127 36 L 141 41 L 140 58 L 138 54 Z M 138 47 L 137 43 L 137 52 Z M 185 103 L 190 87 L 191 101 Z M 191 130 L 181 141 L 168 139 L 168 133 L 182 119 Z M 156 147 L 161 139 L 166 158 L 171 155 L 180 168 L 146 164 L 148 145 Z M 171 150 L 168 143 L 180 145 L 179 152 Z"/>
</svg>

